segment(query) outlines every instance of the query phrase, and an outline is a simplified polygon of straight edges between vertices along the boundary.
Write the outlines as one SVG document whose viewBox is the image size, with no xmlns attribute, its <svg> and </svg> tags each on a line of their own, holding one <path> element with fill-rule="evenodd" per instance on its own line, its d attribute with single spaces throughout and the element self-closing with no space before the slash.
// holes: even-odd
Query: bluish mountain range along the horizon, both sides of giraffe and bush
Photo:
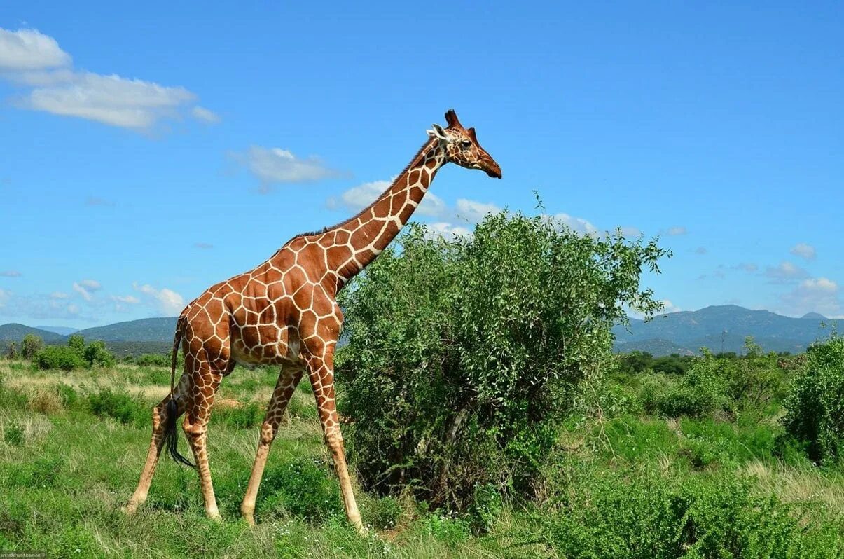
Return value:
<svg viewBox="0 0 844 559">
<path fill-rule="evenodd" d="M 647 351 L 653 355 L 691 355 L 701 347 L 712 351 L 740 353 L 744 339 L 753 336 L 766 351 L 799 353 L 818 339 L 829 337 L 829 319 L 816 312 L 800 318 L 784 317 L 769 311 L 751 311 L 736 305 L 706 307 L 699 311 L 669 312 L 645 322 L 630 318 L 630 325 L 613 328 L 616 351 Z M 101 339 L 118 354 L 169 351 L 173 343 L 176 317 L 142 318 L 125 323 L 86 328 L 73 334 L 85 339 Z M 35 334 L 46 344 L 63 344 L 68 336 L 23 324 L 0 326 L 0 342 L 18 342 Z"/>
</svg>

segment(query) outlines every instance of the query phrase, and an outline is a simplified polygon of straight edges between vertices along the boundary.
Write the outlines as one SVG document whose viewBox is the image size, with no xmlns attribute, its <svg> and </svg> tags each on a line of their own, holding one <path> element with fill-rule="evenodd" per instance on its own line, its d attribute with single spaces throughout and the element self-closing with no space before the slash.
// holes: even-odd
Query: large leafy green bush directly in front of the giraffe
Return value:
<svg viewBox="0 0 844 559">
<path fill-rule="evenodd" d="M 350 456 L 364 486 L 464 510 L 476 486 L 528 495 L 571 387 L 609 359 L 623 305 L 654 312 L 653 242 L 490 216 L 474 236 L 399 238 L 340 294 Z"/>
</svg>

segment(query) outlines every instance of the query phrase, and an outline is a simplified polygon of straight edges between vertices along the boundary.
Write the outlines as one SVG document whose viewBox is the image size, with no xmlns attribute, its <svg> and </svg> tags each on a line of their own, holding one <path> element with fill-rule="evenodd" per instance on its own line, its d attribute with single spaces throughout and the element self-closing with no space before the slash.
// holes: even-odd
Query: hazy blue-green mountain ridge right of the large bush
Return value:
<svg viewBox="0 0 844 559">
<path fill-rule="evenodd" d="M 641 350 L 653 355 L 691 355 L 701 347 L 712 351 L 741 352 L 744 338 L 753 336 L 766 351 L 806 350 L 815 340 L 827 338 L 829 319 L 817 313 L 801 318 L 783 317 L 775 312 L 751 311 L 736 305 L 706 307 L 700 311 L 670 312 L 649 323 L 630 319 L 630 332 L 613 328 L 616 351 Z"/>
</svg>

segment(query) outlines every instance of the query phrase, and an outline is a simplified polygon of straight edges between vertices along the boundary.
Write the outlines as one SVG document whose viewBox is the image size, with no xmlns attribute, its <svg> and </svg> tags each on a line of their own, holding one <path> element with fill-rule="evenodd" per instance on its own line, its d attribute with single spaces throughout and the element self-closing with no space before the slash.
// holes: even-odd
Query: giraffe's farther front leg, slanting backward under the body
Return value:
<svg viewBox="0 0 844 559">
<path fill-rule="evenodd" d="M 304 368 L 300 366 L 284 366 L 279 374 L 279 381 L 273 390 L 273 397 L 269 401 L 267 416 L 261 426 L 261 438 L 258 441 L 257 453 L 255 453 L 255 464 L 252 465 L 252 475 L 249 476 L 249 486 L 246 487 L 246 496 L 241 504 L 243 519 L 250 525 L 255 524 L 255 499 L 258 494 L 258 487 L 261 486 L 261 476 L 264 465 L 267 464 L 269 447 L 273 444 L 276 433 L 279 432 L 279 424 L 284 416 L 284 410 L 290 398 L 293 397 L 296 386 L 302 378 Z"/>
</svg>

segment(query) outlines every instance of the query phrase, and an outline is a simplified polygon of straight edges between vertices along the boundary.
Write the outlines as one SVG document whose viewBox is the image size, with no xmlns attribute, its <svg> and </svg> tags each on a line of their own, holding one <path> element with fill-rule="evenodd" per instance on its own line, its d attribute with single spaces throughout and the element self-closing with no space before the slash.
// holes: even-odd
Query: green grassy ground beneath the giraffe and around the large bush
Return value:
<svg viewBox="0 0 844 559">
<path fill-rule="evenodd" d="M 275 378 L 239 368 L 219 390 L 208 437 L 225 518 L 217 524 L 204 518 L 196 473 L 164 458 L 147 504 L 133 517 L 120 510 L 138 481 L 150 410 L 168 390 L 169 371 L 41 372 L 0 362 L 0 549 L 255 559 L 844 554 L 841 471 L 775 453 L 775 421 L 665 420 L 624 405 L 573 418 L 560 432 L 556 458 L 537 480 L 538 502 L 493 500 L 470 522 L 359 489 L 371 526 L 361 538 L 345 524 L 304 386 L 273 444 L 250 529 L 239 506 Z M 180 445 L 187 452 L 183 437 Z"/>
</svg>

